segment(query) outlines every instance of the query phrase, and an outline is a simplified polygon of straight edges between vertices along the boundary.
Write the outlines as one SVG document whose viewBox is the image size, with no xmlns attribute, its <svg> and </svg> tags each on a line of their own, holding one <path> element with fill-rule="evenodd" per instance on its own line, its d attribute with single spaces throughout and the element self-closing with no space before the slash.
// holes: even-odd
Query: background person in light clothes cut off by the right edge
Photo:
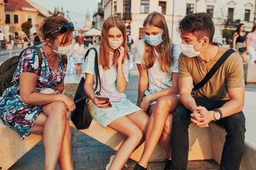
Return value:
<svg viewBox="0 0 256 170">
<path fill-rule="evenodd" d="M 256 59 L 256 25 L 252 27 L 252 31 L 246 36 L 246 54 L 250 55 L 249 64 L 255 64 Z"/>
</svg>

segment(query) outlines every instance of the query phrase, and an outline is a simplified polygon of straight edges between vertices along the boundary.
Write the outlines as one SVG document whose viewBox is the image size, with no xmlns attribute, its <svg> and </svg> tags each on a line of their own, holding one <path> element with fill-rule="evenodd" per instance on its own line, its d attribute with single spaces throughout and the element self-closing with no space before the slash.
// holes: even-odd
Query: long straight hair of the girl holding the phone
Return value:
<svg viewBox="0 0 256 170">
<path fill-rule="evenodd" d="M 101 41 L 100 41 L 100 50 L 99 50 L 99 64 L 103 67 L 103 69 L 109 69 L 109 40 L 108 40 L 108 31 L 109 29 L 117 27 L 123 34 L 124 41 L 122 46 L 124 46 L 124 59 L 122 63 L 124 63 L 125 59 L 129 60 L 129 53 L 127 51 L 127 38 L 126 38 L 126 28 L 124 21 L 121 20 L 117 16 L 111 16 L 107 18 L 103 24 L 101 31 Z M 118 49 L 114 51 L 113 55 L 113 66 L 117 65 L 118 57 L 120 52 Z"/>
</svg>

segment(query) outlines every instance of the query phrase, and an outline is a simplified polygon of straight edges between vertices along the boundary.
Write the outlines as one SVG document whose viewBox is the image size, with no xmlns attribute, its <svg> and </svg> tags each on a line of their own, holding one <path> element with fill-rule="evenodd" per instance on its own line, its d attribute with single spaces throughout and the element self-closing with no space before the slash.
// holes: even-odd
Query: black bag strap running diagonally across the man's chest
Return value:
<svg viewBox="0 0 256 170">
<path fill-rule="evenodd" d="M 211 79 L 211 77 L 216 73 L 216 71 L 220 68 L 220 66 L 225 62 L 225 60 L 232 54 L 236 52 L 232 48 L 229 48 L 223 55 L 220 57 L 220 59 L 212 66 L 211 70 L 205 75 L 204 79 L 194 85 L 192 92 L 195 92 L 195 90 L 200 89 Z"/>
</svg>

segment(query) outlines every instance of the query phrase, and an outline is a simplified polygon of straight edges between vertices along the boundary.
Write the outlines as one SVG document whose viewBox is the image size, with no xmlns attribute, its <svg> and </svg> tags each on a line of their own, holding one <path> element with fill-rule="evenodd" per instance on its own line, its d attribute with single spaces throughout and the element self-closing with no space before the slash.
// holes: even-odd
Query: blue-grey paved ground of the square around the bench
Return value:
<svg viewBox="0 0 256 170">
<path fill-rule="evenodd" d="M 0 62 L 1 62 L 0 52 Z M 4 55 L 2 55 L 4 56 Z M 5 55 L 6 57 L 6 55 Z M 131 56 L 132 58 L 132 56 Z M 72 59 L 71 59 L 72 60 Z M 72 65 L 70 65 L 72 66 Z M 68 69 L 65 83 L 77 83 L 79 77 L 76 77 L 73 69 Z M 138 94 L 138 80 L 139 77 L 136 65 L 131 62 L 130 64 L 130 77 L 127 90 L 125 94 L 133 102 L 136 103 L 136 97 Z M 256 84 L 246 85 L 246 90 L 256 92 Z M 74 161 L 74 169 L 88 169 L 88 170 L 100 170 L 105 169 L 106 164 L 109 162 L 109 157 L 115 154 L 115 150 L 108 146 L 96 141 L 89 136 L 86 136 L 82 132 L 72 129 L 72 158 Z M 133 160 L 127 162 L 128 167 L 124 169 L 132 169 L 134 167 Z M 160 170 L 163 169 L 163 162 L 150 162 L 148 169 Z M 10 170 L 22 170 L 22 169 L 44 169 L 44 143 L 41 141 L 32 150 L 30 150 L 24 157 L 18 160 Z M 60 169 L 57 167 L 57 169 Z M 220 169 L 220 166 L 213 160 L 200 160 L 189 161 L 188 169 Z"/>
</svg>

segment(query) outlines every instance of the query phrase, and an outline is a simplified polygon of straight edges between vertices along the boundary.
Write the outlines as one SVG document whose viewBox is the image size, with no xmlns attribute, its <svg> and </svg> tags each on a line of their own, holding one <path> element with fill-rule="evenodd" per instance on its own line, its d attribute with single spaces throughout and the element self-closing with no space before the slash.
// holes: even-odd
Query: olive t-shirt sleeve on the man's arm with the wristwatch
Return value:
<svg viewBox="0 0 256 170">
<path fill-rule="evenodd" d="M 227 75 L 228 89 L 244 87 L 244 68 L 242 58 L 238 53 L 234 53 L 232 55 L 232 62 L 228 68 Z"/>
</svg>

